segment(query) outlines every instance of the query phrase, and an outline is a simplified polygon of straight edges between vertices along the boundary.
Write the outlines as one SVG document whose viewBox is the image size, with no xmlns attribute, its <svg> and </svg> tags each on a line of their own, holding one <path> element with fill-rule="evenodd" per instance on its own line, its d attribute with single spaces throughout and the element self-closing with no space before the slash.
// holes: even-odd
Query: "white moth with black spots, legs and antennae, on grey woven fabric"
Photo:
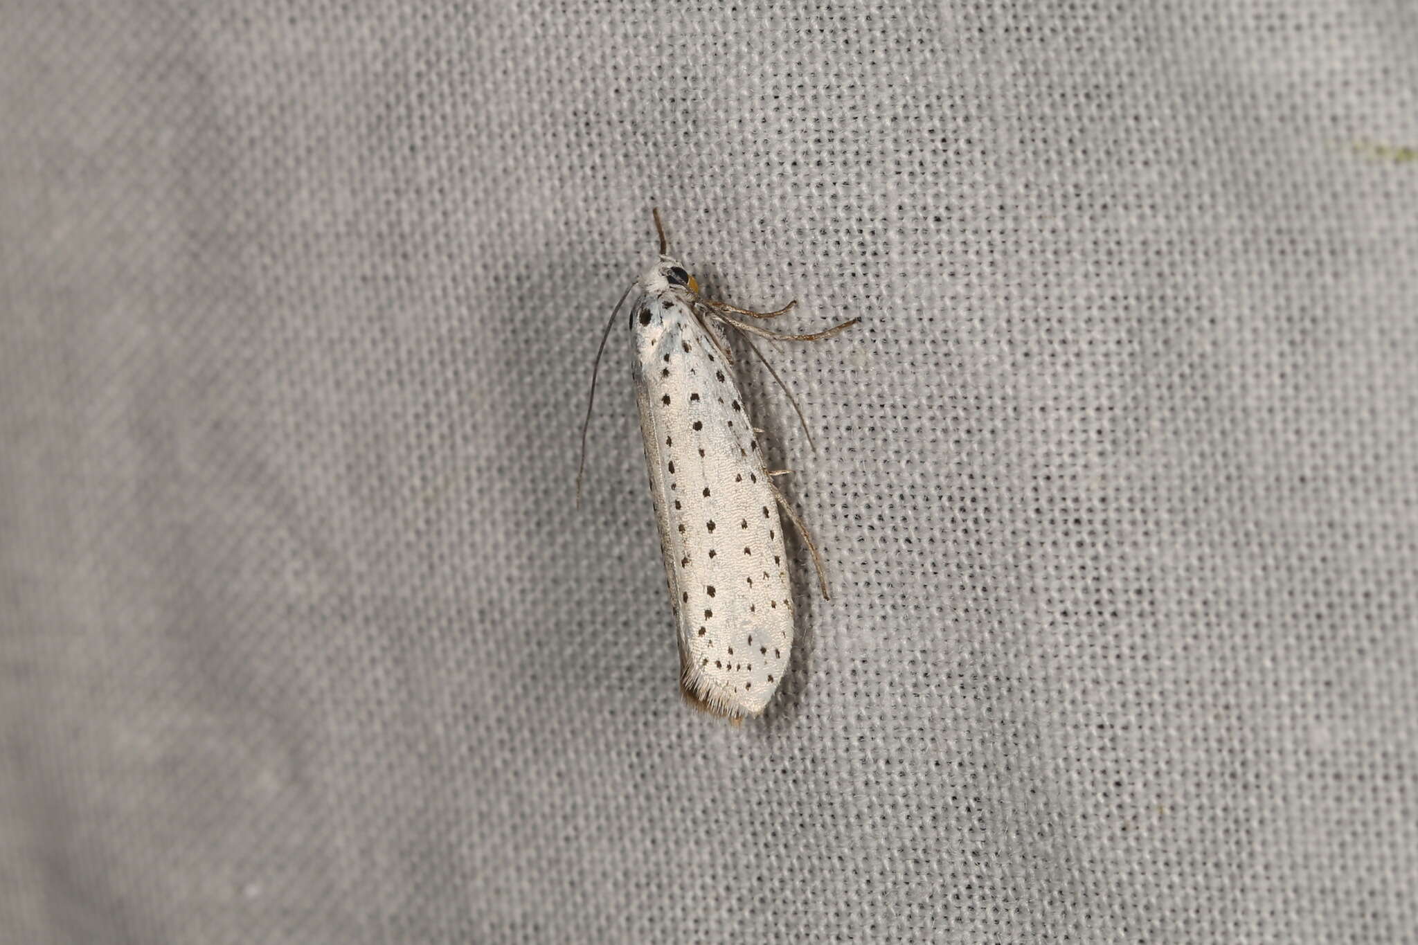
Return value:
<svg viewBox="0 0 1418 945">
<path fill-rule="evenodd" d="M 773 476 L 788 470 L 764 465 L 761 431 L 749 418 L 733 356 L 719 332 L 813 341 L 838 334 L 858 319 L 815 334 L 781 334 L 740 320 L 736 316 L 773 319 L 797 303 L 752 312 L 705 299 L 695 278 L 665 254 L 658 210 L 654 217 L 659 261 L 631 286 L 640 298 L 631 305 L 630 327 L 649 492 L 679 630 L 679 686 L 692 706 L 739 720 L 769 704 L 793 649 L 793 594 L 780 504 L 813 555 L 824 598 L 828 591 L 811 537 L 773 485 Z M 611 324 L 601 336 L 603 350 Z M 752 341 L 749 347 L 757 353 Z M 600 351 L 596 357 L 598 368 Z M 583 425 L 583 466 L 584 451 Z"/>
</svg>

